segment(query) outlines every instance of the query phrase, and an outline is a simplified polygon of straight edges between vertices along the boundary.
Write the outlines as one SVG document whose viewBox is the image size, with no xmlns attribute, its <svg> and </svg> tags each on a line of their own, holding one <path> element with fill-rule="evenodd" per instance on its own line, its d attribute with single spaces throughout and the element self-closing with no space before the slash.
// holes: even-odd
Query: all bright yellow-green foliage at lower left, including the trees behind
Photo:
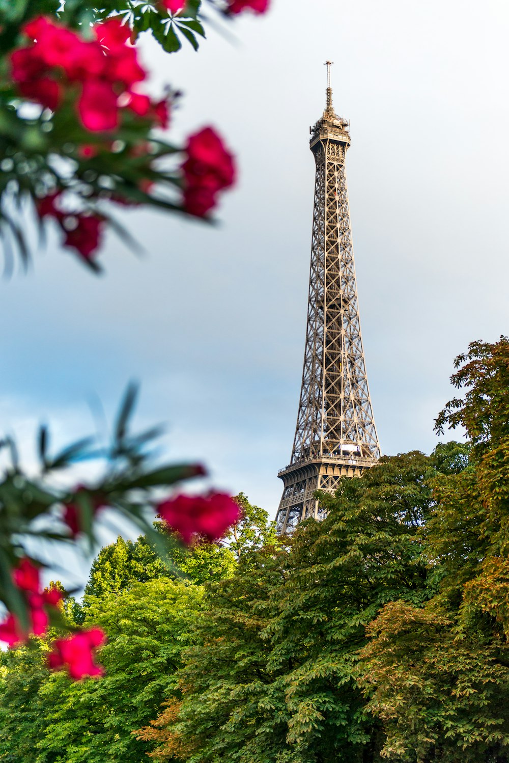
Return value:
<svg viewBox="0 0 509 763">
<path fill-rule="evenodd" d="M 107 633 L 101 681 L 72 683 L 48 671 L 54 631 L 33 639 L 30 649 L 21 645 L 0 655 L 0 760 L 18 760 L 19 751 L 34 763 L 139 761 L 152 748 L 131 732 L 149 723 L 163 702 L 179 701 L 176 671 L 182 650 L 197 637 L 200 583 L 231 578 L 237 563 L 218 543 L 184 549 L 168 539 L 163 523 L 155 523 L 155 532 L 165 555 L 145 536 L 136 542 L 119 537 L 94 560 L 83 603 L 66 597 L 63 604 L 67 626 L 93 624 Z M 187 580 L 178 578 L 182 571 Z M 59 581 L 51 585 L 63 591 Z"/>
</svg>

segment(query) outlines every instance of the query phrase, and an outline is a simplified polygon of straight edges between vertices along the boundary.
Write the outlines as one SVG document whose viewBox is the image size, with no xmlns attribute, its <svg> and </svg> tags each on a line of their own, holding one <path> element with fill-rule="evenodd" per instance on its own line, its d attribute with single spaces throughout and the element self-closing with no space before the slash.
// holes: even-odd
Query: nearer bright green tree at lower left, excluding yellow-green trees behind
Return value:
<svg viewBox="0 0 509 763">
<path fill-rule="evenodd" d="M 175 691 L 201 597 L 200 587 L 159 578 L 90 600 L 85 625 L 98 623 L 108 634 L 101 681 L 49 673 L 42 641 L 3 653 L 0 760 L 137 763 L 143 747 L 130 731 Z"/>
</svg>

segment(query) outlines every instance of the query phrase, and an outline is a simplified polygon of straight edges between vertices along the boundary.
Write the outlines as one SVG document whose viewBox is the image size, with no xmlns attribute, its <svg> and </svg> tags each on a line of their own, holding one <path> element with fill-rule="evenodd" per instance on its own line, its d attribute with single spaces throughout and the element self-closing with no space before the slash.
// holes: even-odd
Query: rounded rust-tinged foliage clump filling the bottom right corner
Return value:
<svg viewBox="0 0 509 763">
<path fill-rule="evenodd" d="M 436 600 L 424 608 L 387 604 L 368 634 L 361 684 L 370 696 L 366 710 L 383 721 L 386 757 L 507 761 L 505 639 L 462 627 Z"/>
</svg>

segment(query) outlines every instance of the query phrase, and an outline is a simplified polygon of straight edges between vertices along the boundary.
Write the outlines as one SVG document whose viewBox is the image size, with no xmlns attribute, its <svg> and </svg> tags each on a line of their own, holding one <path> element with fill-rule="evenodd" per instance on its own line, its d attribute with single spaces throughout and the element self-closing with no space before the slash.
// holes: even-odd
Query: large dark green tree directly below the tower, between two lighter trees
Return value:
<svg viewBox="0 0 509 763">
<path fill-rule="evenodd" d="M 140 735 L 158 743 L 156 760 L 379 759 L 383 725 L 365 712 L 358 655 L 384 604 L 431 596 L 418 533 L 439 460 L 411 452 L 345 479 L 322 496 L 324 522 L 248 552 L 210 588 L 180 671 L 181 705 Z"/>
</svg>

